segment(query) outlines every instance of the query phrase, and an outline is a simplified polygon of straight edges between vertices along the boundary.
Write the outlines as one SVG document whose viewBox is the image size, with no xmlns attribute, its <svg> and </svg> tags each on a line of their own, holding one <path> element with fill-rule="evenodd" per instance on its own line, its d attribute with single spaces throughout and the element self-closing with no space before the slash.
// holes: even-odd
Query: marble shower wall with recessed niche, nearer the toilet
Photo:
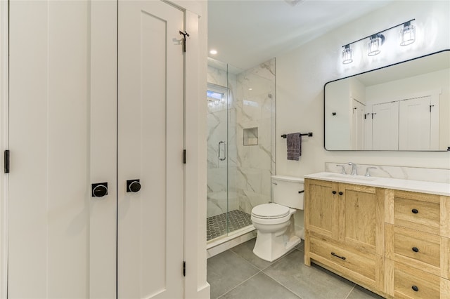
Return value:
<svg viewBox="0 0 450 299">
<path fill-rule="evenodd" d="M 251 213 L 271 200 L 275 169 L 275 59 L 237 76 L 236 140 L 239 209 Z M 244 145 L 245 128 L 258 128 L 257 145 Z"/>
</svg>

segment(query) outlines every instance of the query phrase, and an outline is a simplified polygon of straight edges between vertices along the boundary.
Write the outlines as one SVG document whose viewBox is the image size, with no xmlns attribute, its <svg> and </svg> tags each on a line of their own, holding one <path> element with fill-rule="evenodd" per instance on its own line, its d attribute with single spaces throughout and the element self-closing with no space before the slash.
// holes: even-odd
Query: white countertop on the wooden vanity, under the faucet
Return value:
<svg viewBox="0 0 450 299">
<path fill-rule="evenodd" d="M 312 173 L 304 178 L 328 180 L 332 182 L 347 182 L 349 184 L 366 185 L 397 189 L 411 192 L 423 192 L 450 197 L 450 184 L 445 182 L 425 182 L 421 180 L 402 180 L 399 178 L 377 178 L 364 175 L 343 175 L 340 173 Z"/>
</svg>

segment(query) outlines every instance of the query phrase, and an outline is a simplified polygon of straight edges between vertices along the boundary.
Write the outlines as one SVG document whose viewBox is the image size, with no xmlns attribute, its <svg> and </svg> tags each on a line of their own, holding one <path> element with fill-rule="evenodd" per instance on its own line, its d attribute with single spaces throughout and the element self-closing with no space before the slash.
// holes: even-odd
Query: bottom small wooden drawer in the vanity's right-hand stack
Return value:
<svg viewBox="0 0 450 299">
<path fill-rule="evenodd" d="M 395 298 L 439 298 L 441 281 L 444 279 L 402 263 L 395 263 Z"/>
</svg>

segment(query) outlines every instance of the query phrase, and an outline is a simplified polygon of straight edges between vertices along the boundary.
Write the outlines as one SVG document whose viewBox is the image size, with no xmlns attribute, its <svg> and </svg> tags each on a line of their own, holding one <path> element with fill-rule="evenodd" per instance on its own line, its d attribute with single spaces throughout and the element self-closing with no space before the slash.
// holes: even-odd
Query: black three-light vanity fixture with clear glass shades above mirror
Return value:
<svg viewBox="0 0 450 299">
<path fill-rule="evenodd" d="M 353 49 L 351 48 L 352 44 L 356 44 L 359 41 L 367 40 L 367 55 L 374 56 L 381 53 L 381 46 L 385 42 L 385 36 L 382 34 L 383 32 L 387 32 L 387 30 L 394 29 L 396 27 L 400 27 L 399 32 L 399 39 L 400 39 L 400 46 L 407 46 L 409 44 L 413 44 L 414 41 L 416 41 L 416 27 L 411 24 L 416 19 L 412 19 L 409 21 L 406 21 L 404 23 L 401 23 L 399 25 L 392 26 L 390 28 L 387 28 L 383 31 L 380 31 L 375 34 L 371 34 L 369 36 L 366 36 L 362 39 L 358 39 L 357 41 L 353 41 L 352 43 L 349 43 L 345 46 L 342 46 L 342 52 L 341 52 L 341 59 L 342 64 L 347 65 L 351 62 L 353 62 Z"/>
</svg>

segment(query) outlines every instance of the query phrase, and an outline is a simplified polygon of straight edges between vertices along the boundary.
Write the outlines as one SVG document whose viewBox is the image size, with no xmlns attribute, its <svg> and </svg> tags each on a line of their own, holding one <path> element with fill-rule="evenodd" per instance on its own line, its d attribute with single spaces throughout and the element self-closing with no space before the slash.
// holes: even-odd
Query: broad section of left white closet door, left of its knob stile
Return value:
<svg viewBox="0 0 450 299">
<path fill-rule="evenodd" d="M 8 298 L 88 298 L 89 2 L 9 16 Z"/>
</svg>

